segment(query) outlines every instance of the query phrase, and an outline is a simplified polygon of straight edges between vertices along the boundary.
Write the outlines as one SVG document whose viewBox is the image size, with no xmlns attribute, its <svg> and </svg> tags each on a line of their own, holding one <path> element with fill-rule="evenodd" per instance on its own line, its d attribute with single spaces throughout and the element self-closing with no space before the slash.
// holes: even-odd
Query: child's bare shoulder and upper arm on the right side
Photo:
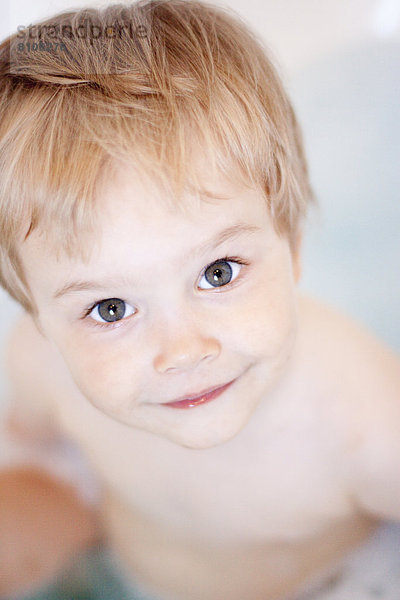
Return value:
<svg viewBox="0 0 400 600">
<path fill-rule="evenodd" d="M 400 519 L 400 357 L 361 323 L 299 294 L 299 337 L 329 414 L 340 423 L 360 508 Z M 321 394 L 321 396 L 322 396 Z"/>
</svg>

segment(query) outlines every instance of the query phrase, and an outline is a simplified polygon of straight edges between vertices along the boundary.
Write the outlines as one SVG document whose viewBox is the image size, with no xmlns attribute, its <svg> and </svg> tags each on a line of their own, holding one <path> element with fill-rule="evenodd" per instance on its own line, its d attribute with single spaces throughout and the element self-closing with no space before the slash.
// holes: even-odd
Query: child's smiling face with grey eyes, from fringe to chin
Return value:
<svg viewBox="0 0 400 600">
<path fill-rule="evenodd" d="M 121 169 L 99 198 L 89 263 L 57 260 L 36 231 L 21 249 L 40 327 L 86 398 L 191 448 L 231 439 L 268 402 L 297 325 L 292 256 L 261 193 L 207 183 L 229 198 L 183 213 Z"/>
</svg>

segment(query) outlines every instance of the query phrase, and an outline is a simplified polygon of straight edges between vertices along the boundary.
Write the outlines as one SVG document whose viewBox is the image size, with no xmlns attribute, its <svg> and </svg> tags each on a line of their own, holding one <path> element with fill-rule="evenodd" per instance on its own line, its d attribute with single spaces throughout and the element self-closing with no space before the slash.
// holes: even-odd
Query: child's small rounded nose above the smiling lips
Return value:
<svg viewBox="0 0 400 600">
<path fill-rule="evenodd" d="M 211 362 L 220 352 L 221 345 L 216 338 L 202 335 L 189 324 L 182 324 L 175 335 L 169 331 L 153 364 L 159 373 L 188 371 L 200 363 Z"/>
</svg>

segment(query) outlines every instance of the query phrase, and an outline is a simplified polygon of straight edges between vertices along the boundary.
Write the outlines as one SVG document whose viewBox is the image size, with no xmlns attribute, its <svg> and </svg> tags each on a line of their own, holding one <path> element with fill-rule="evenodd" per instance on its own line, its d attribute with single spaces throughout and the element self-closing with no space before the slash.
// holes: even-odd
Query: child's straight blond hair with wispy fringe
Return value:
<svg viewBox="0 0 400 600">
<path fill-rule="evenodd" d="M 265 48 L 228 9 L 198 0 L 82 8 L 7 38 L 0 284 L 33 312 L 24 238 L 40 226 L 72 255 L 120 160 L 178 203 L 186 185 L 199 188 L 195 148 L 262 189 L 276 230 L 294 243 L 312 200 L 301 135 Z"/>
</svg>

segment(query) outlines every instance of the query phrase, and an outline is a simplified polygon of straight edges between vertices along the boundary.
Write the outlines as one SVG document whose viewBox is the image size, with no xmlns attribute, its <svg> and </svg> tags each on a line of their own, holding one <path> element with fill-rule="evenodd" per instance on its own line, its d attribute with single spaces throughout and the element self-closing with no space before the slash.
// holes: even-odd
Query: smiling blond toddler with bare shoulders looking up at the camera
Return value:
<svg viewBox="0 0 400 600">
<path fill-rule="evenodd" d="M 197 0 L 40 25 L 0 46 L 9 422 L 72 440 L 100 498 L 3 476 L 0 569 L 45 585 L 104 536 L 132 598 L 294 598 L 400 519 L 400 361 L 296 288 L 291 104 L 246 26 Z"/>
</svg>

